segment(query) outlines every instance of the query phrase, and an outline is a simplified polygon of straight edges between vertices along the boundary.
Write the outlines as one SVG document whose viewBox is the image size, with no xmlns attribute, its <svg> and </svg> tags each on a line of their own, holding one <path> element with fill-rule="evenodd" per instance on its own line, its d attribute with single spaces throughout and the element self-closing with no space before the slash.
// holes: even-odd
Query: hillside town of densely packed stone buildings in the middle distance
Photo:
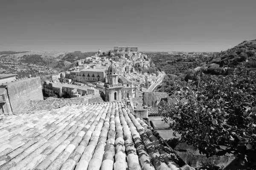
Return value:
<svg viewBox="0 0 256 170">
<path fill-rule="evenodd" d="M 66 72 L 52 75 L 51 80 L 44 81 L 44 96 L 53 97 L 88 97 L 88 95 L 101 96 L 104 101 L 112 102 L 120 99 L 127 99 L 129 96 L 135 98 L 141 96 L 145 91 L 152 91 L 151 85 L 157 82 L 163 73 L 157 74 L 142 73 L 136 71 L 133 65 L 147 68 L 151 59 L 146 54 L 137 51 L 137 48 L 125 49 L 114 47 L 110 57 L 104 56 L 98 51 L 95 55 L 81 59 L 76 62 L 76 67 Z M 114 76 L 114 81 L 111 77 Z M 108 89 L 111 85 L 120 88 L 117 98 L 108 99 Z M 120 94 L 119 94 L 120 92 Z"/>
</svg>

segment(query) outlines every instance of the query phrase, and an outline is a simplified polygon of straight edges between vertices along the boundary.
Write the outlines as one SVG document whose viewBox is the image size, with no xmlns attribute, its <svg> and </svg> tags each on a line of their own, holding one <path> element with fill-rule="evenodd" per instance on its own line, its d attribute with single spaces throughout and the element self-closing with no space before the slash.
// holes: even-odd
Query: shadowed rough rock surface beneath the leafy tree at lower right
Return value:
<svg viewBox="0 0 256 170">
<path fill-rule="evenodd" d="M 230 154 L 224 156 L 212 156 L 207 158 L 205 155 L 200 154 L 199 150 L 197 150 L 195 147 L 186 143 L 177 144 L 174 150 L 177 155 L 181 157 L 181 159 L 183 159 L 187 164 L 192 167 L 202 167 L 202 163 L 208 162 L 215 162 L 215 165 L 218 167 L 226 167 L 233 160 L 235 160 L 235 157 Z"/>
</svg>

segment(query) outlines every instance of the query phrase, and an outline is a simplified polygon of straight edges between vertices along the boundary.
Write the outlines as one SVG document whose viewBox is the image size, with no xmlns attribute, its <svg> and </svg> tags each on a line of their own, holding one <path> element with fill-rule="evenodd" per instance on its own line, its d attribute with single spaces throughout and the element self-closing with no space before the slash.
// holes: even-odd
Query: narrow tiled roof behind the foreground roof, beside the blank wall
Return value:
<svg viewBox="0 0 256 170">
<path fill-rule="evenodd" d="M 85 102 L 84 98 L 55 99 L 55 100 L 31 100 L 22 113 L 31 113 L 33 111 L 48 111 L 51 109 L 63 107 L 65 105 L 79 105 Z"/>
</svg>

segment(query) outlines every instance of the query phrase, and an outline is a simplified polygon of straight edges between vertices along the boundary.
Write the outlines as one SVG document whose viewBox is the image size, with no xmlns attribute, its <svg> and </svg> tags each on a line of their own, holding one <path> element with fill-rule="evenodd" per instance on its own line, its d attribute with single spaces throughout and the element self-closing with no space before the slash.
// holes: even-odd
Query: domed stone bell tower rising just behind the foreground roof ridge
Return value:
<svg viewBox="0 0 256 170">
<path fill-rule="evenodd" d="M 108 82 L 105 83 L 105 101 L 121 101 L 122 100 L 122 84 L 118 82 L 118 73 L 113 62 L 108 68 Z"/>
</svg>

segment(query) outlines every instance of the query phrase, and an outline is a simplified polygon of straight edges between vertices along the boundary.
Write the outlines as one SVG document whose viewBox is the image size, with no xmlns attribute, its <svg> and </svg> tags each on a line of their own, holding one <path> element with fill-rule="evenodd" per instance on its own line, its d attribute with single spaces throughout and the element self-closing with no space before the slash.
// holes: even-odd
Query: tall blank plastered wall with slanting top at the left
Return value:
<svg viewBox="0 0 256 170">
<path fill-rule="evenodd" d="M 40 77 L 21 79 L 7 85 L 12 112 L 20 112 L 30 100 L 43 100 Z"/>
</svg>

